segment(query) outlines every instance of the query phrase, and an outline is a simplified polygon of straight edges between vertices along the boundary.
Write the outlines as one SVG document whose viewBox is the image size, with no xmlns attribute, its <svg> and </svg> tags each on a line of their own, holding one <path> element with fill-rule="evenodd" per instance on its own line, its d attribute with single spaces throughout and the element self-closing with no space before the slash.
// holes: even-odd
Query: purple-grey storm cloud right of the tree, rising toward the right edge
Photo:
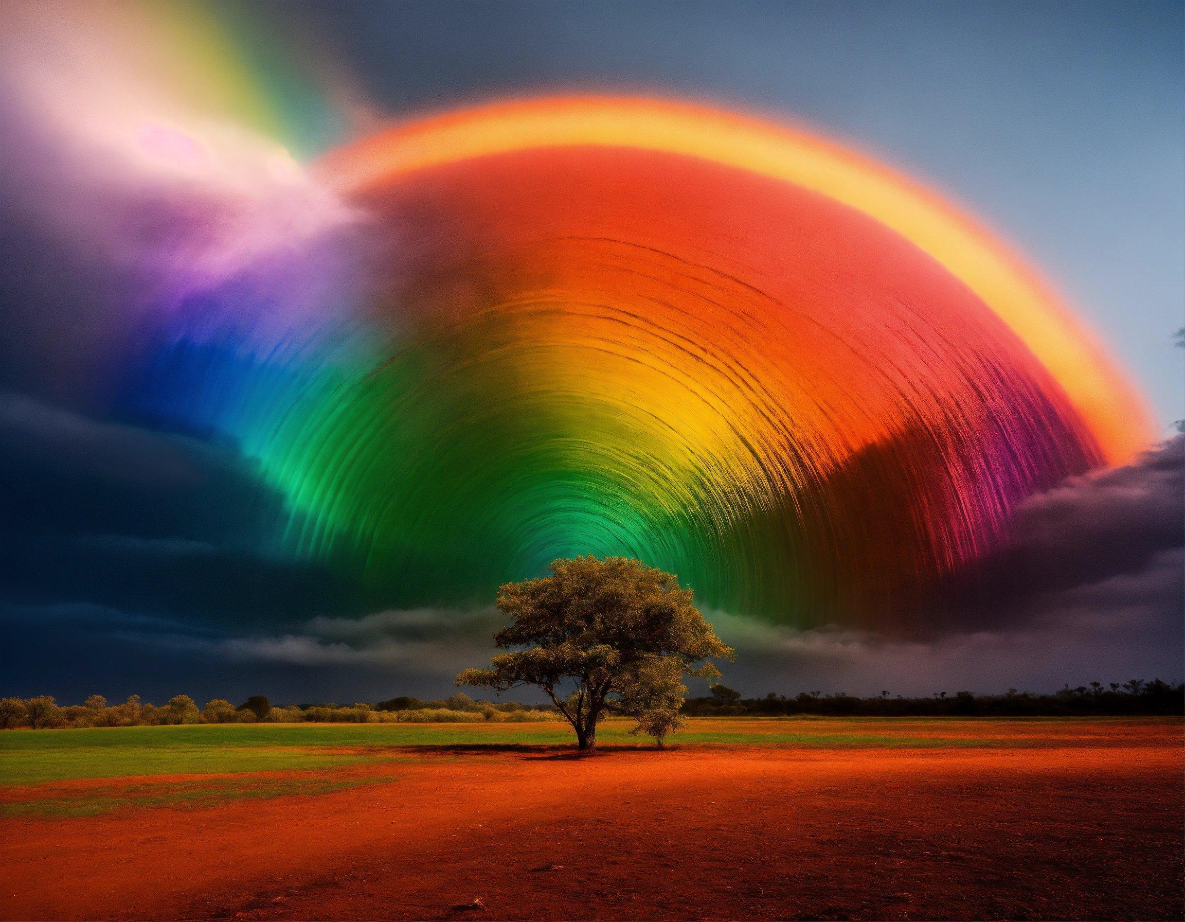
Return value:
<svg viewBox="0 0 1185 922">
<path fill-rule="evenodd" d="M 1185 653 L 1185 436 L 1029 499 L 1001 551 L 956 574 L 905 636 L 715 613 L 725 680 L 856 694 L 1179 680 Z"/>
</svg>

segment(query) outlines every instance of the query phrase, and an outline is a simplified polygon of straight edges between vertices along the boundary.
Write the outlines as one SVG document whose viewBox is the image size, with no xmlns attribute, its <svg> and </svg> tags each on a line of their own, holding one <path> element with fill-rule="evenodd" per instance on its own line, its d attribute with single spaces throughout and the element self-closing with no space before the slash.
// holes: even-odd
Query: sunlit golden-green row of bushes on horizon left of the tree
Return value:
<svg viewBox="0 0 1185 922">
<path fill-rule="evenodd" d="M 395 698 L 370 704 L 292 704 L 276 707 L 262 694 L 236 706 L 222 698 L 198 707 L 188 694 L 155 705 L 133 694 L 122 704 L 108 704 L 102 694 L 83 704 L 60 705 L 47 694 L 36 698 L 0 698 L 0 729 L 50 730 L 68 726 L 158 726 L 164 724 L 236 723 L 479 723 L 482 721 L 533 723 L 556 721 L 552 709 L 517 702 L 491 704 L 457 693 L 438 702 Z"/>
</svg>

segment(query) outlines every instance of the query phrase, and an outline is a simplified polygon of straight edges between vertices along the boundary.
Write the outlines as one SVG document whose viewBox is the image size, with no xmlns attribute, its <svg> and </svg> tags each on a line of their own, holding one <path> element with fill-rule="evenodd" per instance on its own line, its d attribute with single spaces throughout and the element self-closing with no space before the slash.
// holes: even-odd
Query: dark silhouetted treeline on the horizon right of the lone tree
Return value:
<svg viewBox="0 0 1185 922">
<path fill-rule="evenodd" d="M 793 698 L 770 692 L 764 698 L 742 698 L 725 685 L 713 685 L 704 698 L 688 698 L 683 712 L 690 717 L 788 717 L 811 713 L 828 717 L 1072 717 L 1185 713 L 1185 685 L 1160 679 L 1132 679 L 1103 685 L 1093 681 L 1052 694 L 1008 689 L 1004 694 L 968 691 L 937 692 L 928 698 L 904 698 L 888 691 L 872 698 L 843 692 L 802 692 Z"/>
</svg>

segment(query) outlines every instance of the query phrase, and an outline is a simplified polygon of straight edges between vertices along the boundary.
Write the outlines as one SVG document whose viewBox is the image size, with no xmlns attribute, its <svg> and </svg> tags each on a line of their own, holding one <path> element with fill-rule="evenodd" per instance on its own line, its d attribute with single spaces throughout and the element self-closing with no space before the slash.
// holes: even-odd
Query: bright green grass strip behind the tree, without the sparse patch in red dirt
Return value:
<svg viewBox="0 0 1185 922">
<path fill-rule="evenodd" d="M 935 748 L 1066 745 L 1110 738 L 1081 718 L 693 718 L 673 745 Z M 1114 726 L 1133 726 L 1132 721 Z M 608 721 L 602 747 L 649 745 Z M 1100 729 L 1103 728 L 1103 729 Z M 194 724 L 0 732 L 0 787 L 140 775 L 319 771 L 409 757 L 405 747 L 563 745 L 563 723 Z"/>
</svg>

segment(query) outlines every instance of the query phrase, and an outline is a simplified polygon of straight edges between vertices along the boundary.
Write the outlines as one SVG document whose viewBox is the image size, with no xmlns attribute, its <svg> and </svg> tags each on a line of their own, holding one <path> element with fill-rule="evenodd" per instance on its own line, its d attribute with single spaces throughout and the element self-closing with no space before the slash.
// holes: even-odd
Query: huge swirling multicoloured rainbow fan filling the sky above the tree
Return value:
<svg viewBox="0 0 1185 922">
<path fill-rule="evenodd" d="M 624 553 L 716 609 L 888 629 L 1152 437 L 1007 248 L 802 130 L 531 100 L 313 173 L 357 224 L 173 305 L 121 399 L 233 440 L 283 545 L 376 603 Z"/>
</svg>

